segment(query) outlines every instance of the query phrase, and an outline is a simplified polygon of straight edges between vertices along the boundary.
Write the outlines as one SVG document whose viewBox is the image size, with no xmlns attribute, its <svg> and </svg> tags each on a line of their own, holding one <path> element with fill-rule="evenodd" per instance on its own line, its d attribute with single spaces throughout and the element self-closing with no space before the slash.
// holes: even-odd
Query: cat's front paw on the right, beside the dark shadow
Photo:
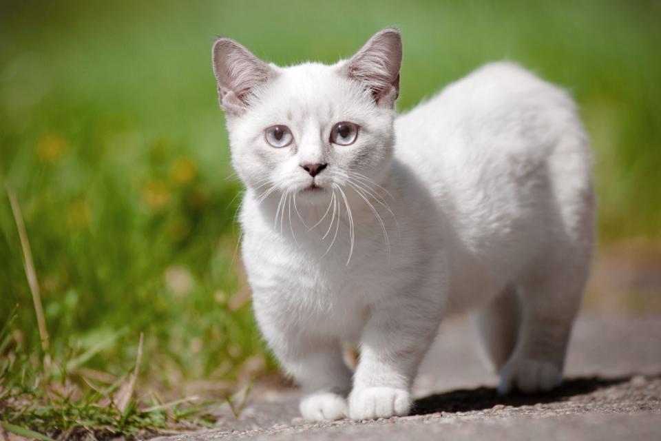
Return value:
<svg viewBox="0 0 661 441">
<path fill-rule="evenodd" d="M 403 389 L 366 387 L 353 391 L 349 397 L 349 416 L 352 420 L 406 416 L 410 409 L 410 394 Z"/>
</svg>

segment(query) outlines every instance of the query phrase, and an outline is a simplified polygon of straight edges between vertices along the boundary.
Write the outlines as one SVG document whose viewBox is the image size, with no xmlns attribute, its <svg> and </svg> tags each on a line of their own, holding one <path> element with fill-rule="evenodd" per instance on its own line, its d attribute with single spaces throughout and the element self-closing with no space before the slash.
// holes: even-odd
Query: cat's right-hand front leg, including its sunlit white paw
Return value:
<svg viewBox="0 0 661 441">
<path fill-rule="evenodd" d="M 438 305 L 419 299 L 418 302 L 382 306 L 373 312 L 361 339 L 349 396 L 350 418 L 408 415 L 412 380 L 440 321 Z"/>
</svg>

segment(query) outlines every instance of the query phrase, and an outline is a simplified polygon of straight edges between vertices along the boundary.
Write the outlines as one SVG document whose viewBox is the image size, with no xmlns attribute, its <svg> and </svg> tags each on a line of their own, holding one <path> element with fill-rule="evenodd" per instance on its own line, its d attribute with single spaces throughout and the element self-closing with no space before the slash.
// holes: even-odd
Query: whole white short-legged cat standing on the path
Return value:
<svg viewBox="0 0 661 441">
<path fill-rule="evenodd" d="M 400 64 L 394 29 L 334 65 L 213 45 L 255 315 L 309 420 L 408 414 L 441 318 L 468 308 L 500 391 L 552 389 L 589 273 L 591 154 L 569 96 L 493 63 L 397 116 Z"/>
</svg>

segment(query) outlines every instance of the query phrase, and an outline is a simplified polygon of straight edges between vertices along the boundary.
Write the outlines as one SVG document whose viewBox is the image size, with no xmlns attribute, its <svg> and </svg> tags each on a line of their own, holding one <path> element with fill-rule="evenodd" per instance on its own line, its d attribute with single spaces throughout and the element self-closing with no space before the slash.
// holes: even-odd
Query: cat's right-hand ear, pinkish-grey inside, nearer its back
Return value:
<svg viewBox="0 0 661 441">
<path fill-rule="evenodd" d="M 378 105 L 391 107 L 399 96 L 401 36 L 397 29 L 377 32 L 344 65 L 346 74 L 372 91 Z"/>
</svg>

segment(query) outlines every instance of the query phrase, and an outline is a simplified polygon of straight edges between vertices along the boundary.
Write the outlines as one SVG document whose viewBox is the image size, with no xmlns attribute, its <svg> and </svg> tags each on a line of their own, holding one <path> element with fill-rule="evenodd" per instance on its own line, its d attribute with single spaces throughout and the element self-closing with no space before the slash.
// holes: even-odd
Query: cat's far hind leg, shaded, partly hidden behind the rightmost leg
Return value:
<svg viewBox="0 0 661 441">
<path fill-rule="evenodd" d="M 485 354 L 497 372 L 510 359 L 521 320 L 516 287 L 508 285 L 476 314 L 476 324 Z"/>
</svg>

